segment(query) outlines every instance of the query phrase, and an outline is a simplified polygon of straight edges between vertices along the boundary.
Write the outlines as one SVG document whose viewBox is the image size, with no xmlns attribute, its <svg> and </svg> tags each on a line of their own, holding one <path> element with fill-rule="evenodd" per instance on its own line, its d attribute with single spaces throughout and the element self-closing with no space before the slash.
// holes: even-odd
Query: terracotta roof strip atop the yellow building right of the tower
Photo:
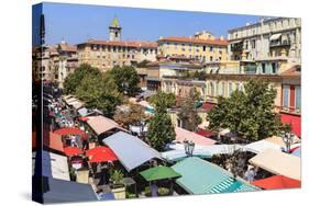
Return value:
<svg viewBox="0 0 309 206">
<path fill-rule="evenodd" d="M 158 39 L 158 42 L 179 42 L 179 43 L 194 43 L 194 44 L 209 44 L 209 45 L 220 45 L 228 46 L 229 42 L 227 39 L 201 39 L 195 37 L 183 37 L 183 36 L 169 36 Z"/>
</svg>

